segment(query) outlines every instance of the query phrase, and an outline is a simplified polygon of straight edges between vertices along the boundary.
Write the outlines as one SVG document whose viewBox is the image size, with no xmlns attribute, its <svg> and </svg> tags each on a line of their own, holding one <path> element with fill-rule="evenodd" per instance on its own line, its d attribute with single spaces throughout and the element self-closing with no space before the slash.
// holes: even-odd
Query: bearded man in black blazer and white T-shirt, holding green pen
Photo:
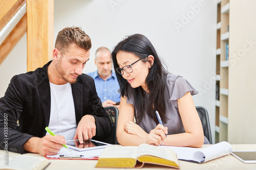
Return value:
<svg viewBox="0 0 256 170">
<path fill-rule="evenodd" d="M 8 151 L 55 155 L 66 140 L 83 143 L 110 134 L 94 80 L 82 74 L 91 46 L 84 31 L 67 27 L 57 35 L 52 61 L 11 79 L 0 98 L 0 149 L 6 150 L 7 141 Z M 57 136 L 46 133 L 46 127 Z"/>
</svg>

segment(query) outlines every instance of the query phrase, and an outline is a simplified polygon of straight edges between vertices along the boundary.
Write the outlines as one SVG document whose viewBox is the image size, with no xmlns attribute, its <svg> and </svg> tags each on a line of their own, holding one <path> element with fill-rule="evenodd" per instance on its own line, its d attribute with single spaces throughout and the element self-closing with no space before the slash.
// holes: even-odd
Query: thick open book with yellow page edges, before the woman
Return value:
<svg viewBox="0 0 256 170">
<path fill-rule="evenodd" d="M 140 168 L 144 163 L 179 168 L 179 160 L 171 149 L 145 143 L 138 147 L 106 147 L 95 167 Z"/>
</svg>

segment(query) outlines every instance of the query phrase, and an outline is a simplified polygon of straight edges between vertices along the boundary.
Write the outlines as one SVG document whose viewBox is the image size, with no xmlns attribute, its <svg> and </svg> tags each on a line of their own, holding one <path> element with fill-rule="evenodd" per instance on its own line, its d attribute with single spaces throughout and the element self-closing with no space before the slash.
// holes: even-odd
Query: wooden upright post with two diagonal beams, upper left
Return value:
<svg viewBox="0 0 256 170">
<path fill-rule="evenodd" d="M 27 32 L 27 70 L 31 71 L 52 56 L 54 0 L 0 0 L 0 31 L 25 4 L 26 14 L 0 44 L 0 65 Z"/>
</svg>

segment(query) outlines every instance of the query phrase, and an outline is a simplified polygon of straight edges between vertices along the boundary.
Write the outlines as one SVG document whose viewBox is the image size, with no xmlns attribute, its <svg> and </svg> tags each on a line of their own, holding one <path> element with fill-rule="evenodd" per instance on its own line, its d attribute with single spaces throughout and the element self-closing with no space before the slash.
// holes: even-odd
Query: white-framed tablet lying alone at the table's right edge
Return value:
<svg viewBox="0 0 256 170">
<path fill-rule="evenodd" d="M 256 163 L 256 151 L 233 151 L 231 155 L 244 163 Z"/>
</svg>

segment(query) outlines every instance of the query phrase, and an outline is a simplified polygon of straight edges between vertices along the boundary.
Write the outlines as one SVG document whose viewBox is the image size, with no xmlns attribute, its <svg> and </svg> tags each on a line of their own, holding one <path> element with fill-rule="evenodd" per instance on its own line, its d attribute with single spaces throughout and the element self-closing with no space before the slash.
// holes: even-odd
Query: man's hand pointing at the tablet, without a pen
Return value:
<svg viewBox="0 0 256 170">
<path fill-rule="evenodd" d="M 80 143 L 83 143 L 83 139 L 86 141 L 96 135 L 95 119 L 92 115 L 85 115 L 81 118 L 74 136 L 74 140 L 78 139 Z"/>
</svg>

